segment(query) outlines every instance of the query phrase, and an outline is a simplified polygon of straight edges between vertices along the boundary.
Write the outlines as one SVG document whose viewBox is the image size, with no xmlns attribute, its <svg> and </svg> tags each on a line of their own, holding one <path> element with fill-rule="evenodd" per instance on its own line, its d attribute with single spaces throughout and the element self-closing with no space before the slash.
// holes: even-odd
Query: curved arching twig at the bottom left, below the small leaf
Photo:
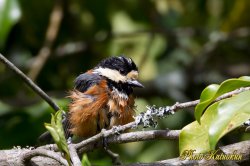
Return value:
<svg viewBox="0 0 250 166">
<path fill-rule="evenodd" d="M 33 157 L 36 157 L 36 156 L 49 157 L 58 161 L 62 165 L 68 166 L 68 162 L 64 158 L 62 158 L 59 154 L 50 150 L 46 150 L 46 149 L 34 149 L 31 151 L 28 151 L 22 154 L 19 160 L 20 160 L 20 163 L 22 163 L 22 165 L 25 166 Z"/>
</svg>

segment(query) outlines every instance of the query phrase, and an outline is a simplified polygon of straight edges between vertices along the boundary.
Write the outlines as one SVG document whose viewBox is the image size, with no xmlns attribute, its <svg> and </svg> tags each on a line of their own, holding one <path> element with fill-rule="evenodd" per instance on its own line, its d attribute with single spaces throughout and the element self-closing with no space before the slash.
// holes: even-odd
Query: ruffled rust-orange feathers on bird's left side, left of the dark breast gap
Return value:
<svg viewBox="0 0 250 166">
<path fill-rule="evenodd" d="M 70 131 L 77 136 L 88 137 L 97 133 L 98 125 L 104 128 L 107 125 L 105 103 L 108 95 L 106 85 L 101 83 L 91 87 L 85 93 L 77 90 L 71 92 L 72 103 L 69 105 Z"/>
</svg>

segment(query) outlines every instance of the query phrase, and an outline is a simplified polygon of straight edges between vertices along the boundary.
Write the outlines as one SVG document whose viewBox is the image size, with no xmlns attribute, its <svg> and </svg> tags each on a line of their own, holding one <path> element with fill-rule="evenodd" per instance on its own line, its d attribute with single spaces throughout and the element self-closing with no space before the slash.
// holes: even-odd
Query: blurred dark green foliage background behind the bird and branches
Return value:
<svg viewBox="0 0 250 166">
<path fill-rule="evenodd" d="M 25 73 L 44 44 L 55 2 L 0 0 L 0 52 Z M 208 84 L 250 74 L 248 0 L 61 2 L 59 34 L 35 81 L 64 110 L 74 78 L 112 55 L 125 54 L 139 66 L 146 88 L 135 91 L 138 113 L 147 104 L 197 99 Z M 36 145 L 51 108 L 3 64 L 0 87 L 0 148 Z M 193 120 L 193 110 L 180 111 L 160 120 L 158 128 L 181 129 Z M 231 134 L 221 145 L 248 138 Z M 148 141 L 112 149 L 131 163 L 176 157 L 177 147 L 177 141 Z M 111 163 L 102 150 L 88 159 Z"/>
</svg>

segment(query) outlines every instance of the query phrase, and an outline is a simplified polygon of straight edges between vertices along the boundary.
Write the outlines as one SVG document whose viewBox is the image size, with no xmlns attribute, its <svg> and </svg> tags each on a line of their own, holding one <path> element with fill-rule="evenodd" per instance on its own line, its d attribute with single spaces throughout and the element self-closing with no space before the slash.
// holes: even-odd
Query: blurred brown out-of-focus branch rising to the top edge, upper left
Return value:
<svg viewBox="0 0 250 166">
<path fill-rule="evenodd" d="M 40 49 L 38 55 L 34 59 L 28 76 L 35 80 L 38 74 L 40 73 L 42 67 L 47 61 L 48 57 L 51 55 L 51 47 L 54 44 L 54 41 L 57 37 L 61 20 L 63 17 L 62 1 L 57 0 L 55 6 L 50 15 L 50 22 L 46 32 L 46 37 L 43 47 Z"/>
</svg>

